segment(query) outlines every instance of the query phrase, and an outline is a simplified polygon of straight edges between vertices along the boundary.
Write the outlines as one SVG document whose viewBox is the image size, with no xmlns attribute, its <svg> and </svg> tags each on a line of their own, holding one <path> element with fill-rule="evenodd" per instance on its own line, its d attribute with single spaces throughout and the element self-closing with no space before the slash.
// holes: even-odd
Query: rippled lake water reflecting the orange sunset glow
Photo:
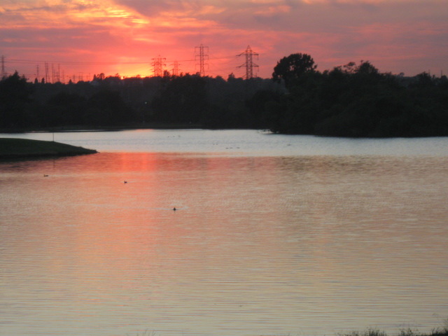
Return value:
<svg viewBox="0 0 448 336">
<path fill-rule="evenodd" d="M 448 318 L 448 138 L 54 136 L 100 153 L 0 162 L 2 336 L 393 335 Z"/>
</svg>

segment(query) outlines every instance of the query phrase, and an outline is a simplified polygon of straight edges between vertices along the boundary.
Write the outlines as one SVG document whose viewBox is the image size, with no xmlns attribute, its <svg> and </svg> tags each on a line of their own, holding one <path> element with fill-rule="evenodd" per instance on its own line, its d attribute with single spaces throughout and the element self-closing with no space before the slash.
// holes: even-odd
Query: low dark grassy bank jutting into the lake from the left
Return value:
<svg viewBox="0 0 448 336">
<path fill-rule="evenodd" d="M 53 141 L 0 138 L 0 159 L 41 158 L 92 153 L 97 153 L 97 151 Z"/>
</svg>

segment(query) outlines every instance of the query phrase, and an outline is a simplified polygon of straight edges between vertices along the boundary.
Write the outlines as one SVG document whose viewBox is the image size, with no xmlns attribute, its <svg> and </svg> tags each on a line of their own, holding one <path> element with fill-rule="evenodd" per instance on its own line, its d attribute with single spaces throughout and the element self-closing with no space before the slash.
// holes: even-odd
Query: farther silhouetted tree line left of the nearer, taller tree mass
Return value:
<svg viewBox="0 0 448 336">
<path fill-rule="evenodd" d="M 272 80 L 228 80 L 185 74 L 125 78 L 94 75 L 90 82 L 45 83 L 17 72 L 0 81 L 0 128 L 176 125 L 260 127 L 248 99 L 258 90 L 284 90 Z"/>
</svg>

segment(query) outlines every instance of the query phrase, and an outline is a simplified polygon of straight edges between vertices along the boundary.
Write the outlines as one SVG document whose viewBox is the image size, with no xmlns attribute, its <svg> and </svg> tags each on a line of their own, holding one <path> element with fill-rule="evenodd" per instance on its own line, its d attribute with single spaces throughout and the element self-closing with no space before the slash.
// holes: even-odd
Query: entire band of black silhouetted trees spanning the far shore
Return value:
<svg viewBox="0 0 448 336">
<path fill-rule="evenodd" d="M 339 137 L 448 135 L 448 80 L 380 73 L 370 62 L 316 70 L 307 54 L 277 62 L 272 79 L 183 74 L 94 75 L 90 82 L 0 80 L 0 128 L 126 127 L 135 123 L 256 128 Z"/>
</svg>

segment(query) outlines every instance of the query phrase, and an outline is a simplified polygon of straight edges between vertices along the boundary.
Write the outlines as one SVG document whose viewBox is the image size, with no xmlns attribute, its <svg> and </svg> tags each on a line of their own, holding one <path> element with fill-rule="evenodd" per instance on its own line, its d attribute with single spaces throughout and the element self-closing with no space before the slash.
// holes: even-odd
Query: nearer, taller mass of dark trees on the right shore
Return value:
<svg viewBox="0 0 448 336">
<path fill-rule="evenodd" d="M 306 54 L 283 57 L 273 73 L 288 93 L 262 109 L 269 129 L 337 137 L 448 135 L 448 80 L 421 73 L 402 78 L 379 73 L 370 62 L 316 71 Z"/>
</svg>

